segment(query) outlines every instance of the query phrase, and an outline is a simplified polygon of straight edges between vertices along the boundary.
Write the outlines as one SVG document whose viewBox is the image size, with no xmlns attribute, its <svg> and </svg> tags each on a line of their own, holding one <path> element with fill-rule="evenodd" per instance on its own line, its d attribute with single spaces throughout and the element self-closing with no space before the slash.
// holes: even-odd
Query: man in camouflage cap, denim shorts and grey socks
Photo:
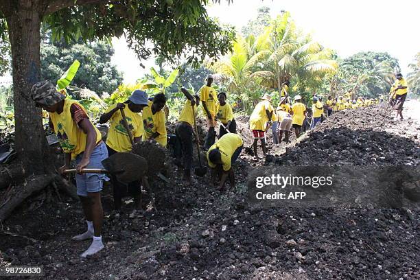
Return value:
<svg viewBox="0 0 420 280">
<path fill-rule="evenodd" d="M 93 255 L 102 248 L 102 203 L 100 191 L 103 180 L 108 180 L 104 174 L 82 174 L 85 167 L 103 169 L 102 161 L 108 157 L 106 145 L 101 133 L 89 120 L 86 110 L 75 100 L 65 99 L 56 91 L 51 82 L 37 82 L 32 86 L 32 100 L 35 106 L 49 112 L 54 131 L 65 152 L 65 165 L 60 167 L 60 173 L 69 169 L 71 160 L 75 159 L 77 194 L 82 201 L 87 231 L 75 235 L 73 240 L 93 239 L 91 246 L 80 255 Z"/>
</svg>

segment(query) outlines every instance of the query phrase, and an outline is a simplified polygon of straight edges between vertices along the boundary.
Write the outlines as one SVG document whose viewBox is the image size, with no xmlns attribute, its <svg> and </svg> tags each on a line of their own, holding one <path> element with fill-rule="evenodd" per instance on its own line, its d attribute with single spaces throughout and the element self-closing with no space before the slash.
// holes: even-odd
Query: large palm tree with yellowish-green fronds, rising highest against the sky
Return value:
<svg viewBox="0 0 420 280">
<path fill-rule="evenodd" d="M 275 21 L 257 38 L 258 47 L 266 51 L 261 71 L 253 77 L 262 78 L 262 84 L 270 89 L 281 89 L 281 84 L 292 77 L 315 78 L 327 71 L 336 71 L 337 62 L 331 60 L 331 52 L 296 29 L 288 12 Z"/>
</svg>

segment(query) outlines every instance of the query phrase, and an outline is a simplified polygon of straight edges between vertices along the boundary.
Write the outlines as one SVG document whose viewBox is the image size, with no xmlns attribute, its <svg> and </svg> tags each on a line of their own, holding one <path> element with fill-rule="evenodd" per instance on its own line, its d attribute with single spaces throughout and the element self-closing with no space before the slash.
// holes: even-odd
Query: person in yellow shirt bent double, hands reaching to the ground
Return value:
<svg viewBox="0 0 420 280">
<path fill-rule="evenodd" d="M 217 177 L 220 178 L 218 190 L 224 189 L 224 183 L 228 176 L 231 187 L 235 187 L 235 172 L 232 165 L 240 156 L 243 145 L 244 141 L 239 135 L 227 133 L 207 151 L 207 163 L 211 167 L 211 183 L 215 185 Z"/>
</svg>

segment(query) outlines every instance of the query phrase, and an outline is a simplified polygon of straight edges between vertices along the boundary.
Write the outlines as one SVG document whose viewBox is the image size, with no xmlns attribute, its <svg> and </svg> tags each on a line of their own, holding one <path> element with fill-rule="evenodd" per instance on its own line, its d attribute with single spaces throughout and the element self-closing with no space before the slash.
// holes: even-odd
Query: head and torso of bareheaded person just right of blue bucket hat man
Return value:
<svg viewBox="0 0 420 280">
<path fill-rule="evenodd" d="M 154 139 L 163 147 L 166 147 L 166 117 L 165 112 L 162 110 L 165 104 L 166 96 L 163 93 L 158 93 L 154 97 L 149 98 L 148 106 L 143 109 L 142 113 L 144 127 L 143 141 Z"/>
</svg>

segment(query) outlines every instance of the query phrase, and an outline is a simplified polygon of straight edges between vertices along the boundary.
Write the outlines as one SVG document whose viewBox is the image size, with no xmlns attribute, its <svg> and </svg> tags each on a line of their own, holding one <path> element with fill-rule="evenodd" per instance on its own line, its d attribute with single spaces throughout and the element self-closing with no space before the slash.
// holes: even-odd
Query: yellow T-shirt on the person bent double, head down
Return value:
<svg viewBox="0 0 420 280">
<path fill-rule="evenodd" d="M 220 154 L 222 156 L 222 165 L 223 170 L 228 171 L 231 169 L 231 161 L 233 153 L 237 148 L 240 148 L 244 144 L 242 138 L 235 133 L 227 133 L 223 135 L 216 143 L 214 143 L 209 150 L 207 151 L 207 163 L 211 168 L 216 167 L 215 164 L 211 163 L 209 160 L 209 154 L 211 150 L 219 148 Z"/>
</svg>

